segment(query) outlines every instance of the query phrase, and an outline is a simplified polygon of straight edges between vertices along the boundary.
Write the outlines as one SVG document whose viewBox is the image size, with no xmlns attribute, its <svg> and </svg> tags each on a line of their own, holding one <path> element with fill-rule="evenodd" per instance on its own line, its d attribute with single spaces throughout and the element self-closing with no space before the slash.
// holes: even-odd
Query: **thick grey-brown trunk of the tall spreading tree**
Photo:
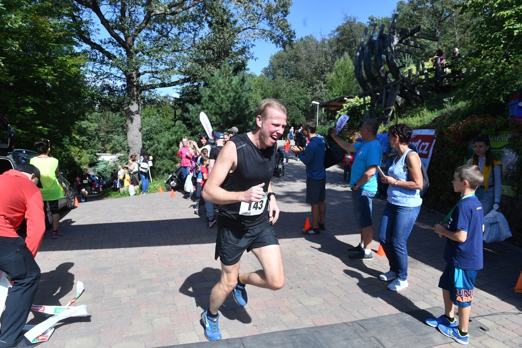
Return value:
<svg viewBox="0 0 522 348">
<path fill-rule="evenodd" d="M 139 155 L 141 149 L 141 91 L 138 87 L 136 73 L 126 73 L 127 81 L 127 105 L 124 107 L 127 118 L 127 142 L 128 153 L 136 152 Z"/>
</svg>

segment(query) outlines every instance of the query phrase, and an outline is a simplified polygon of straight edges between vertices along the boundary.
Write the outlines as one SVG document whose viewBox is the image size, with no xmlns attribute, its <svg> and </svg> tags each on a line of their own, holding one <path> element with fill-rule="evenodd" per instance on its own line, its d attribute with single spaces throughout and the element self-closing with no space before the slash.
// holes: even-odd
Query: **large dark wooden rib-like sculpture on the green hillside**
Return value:
<svg viewBox="0 0 522 348">
<path fill-rule="evenodd" d="M 416 62 L 415 72 L 408 69 L 408 76 L 401 73 L 404 65 L 398 66 L 396 59 L 402 54 L 414 54 L 413 50 L 425 50 L 426 46 L 419 40 L 438 41 L 438 38 L 421 33 L 421 27 L 413 29 L 398 28 L 397 14 L 385 33 L 385 25 L 377 31 L 377 23 L 373 23 L 370 34 L 368 29 L 364 33 L 355 55 L 355 78 L 363 92 L 359 95 L 364 101 L 364 117 L 382 119 L 389 122 L 395 103 L 399 105 L 407 102 L 416 104 L 425 100 L 430 91 L 438 88 L 442 80 L 454 77 L 445 73 L 440 59 L 434 62 L 434 77 L 429 76 L 424 62 Z M 420 79 L 420 76 L 423 79 Z M 379 115 L 381 114 L 381 115 Z"/>
</svg>

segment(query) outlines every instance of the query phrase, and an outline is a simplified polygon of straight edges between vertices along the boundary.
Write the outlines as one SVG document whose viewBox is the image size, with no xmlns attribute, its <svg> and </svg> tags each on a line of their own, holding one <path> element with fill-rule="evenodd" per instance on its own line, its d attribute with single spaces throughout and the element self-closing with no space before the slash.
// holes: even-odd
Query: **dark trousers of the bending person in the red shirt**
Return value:
<svg viewBox="0 0 522 348">
<path fill-rule="evenodd" d="M 40 267 L 21 237 L 0 237 L 0 270 L 9 274 L 13 281 L 0 317 L 0 347 L 9 347 L 23 338 L 22 328 L 38 289 Z"/>
</svg>

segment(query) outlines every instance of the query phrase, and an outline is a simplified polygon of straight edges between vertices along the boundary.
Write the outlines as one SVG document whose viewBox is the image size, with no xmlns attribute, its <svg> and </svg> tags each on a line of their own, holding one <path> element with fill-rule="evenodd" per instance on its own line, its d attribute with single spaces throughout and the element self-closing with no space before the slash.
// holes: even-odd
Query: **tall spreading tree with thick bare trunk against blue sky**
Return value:
<svg viewBox="0 0 522 348">
<path fill-rule="evenodd" d="M 142 144 L 143 92 L 200 80 L 224 62 L 245 65 L 257 38 L 284 46 L 294 36 L 290 0 L 69 1 L 78 38 L 90 48 L 91 74 L 125 83 L 132 152 Z"/>
</svg>

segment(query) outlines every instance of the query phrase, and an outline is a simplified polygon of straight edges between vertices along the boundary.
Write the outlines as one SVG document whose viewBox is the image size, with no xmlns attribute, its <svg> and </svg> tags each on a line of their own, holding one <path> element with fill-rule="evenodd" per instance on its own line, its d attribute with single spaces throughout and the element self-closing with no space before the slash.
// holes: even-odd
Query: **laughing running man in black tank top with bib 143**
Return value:
<svg viewBox="0 0 522 348">
<path fill-rule="evenodd" d="M 281 249 L 272 227 L 279 207 L 270 178 L 277 139 L 286 125 L 286 107 L 276 99 L 263 100 L 257 108 L 256 128 L 225 144 L 205 184 L 204 199 L 220 205 L 216 259 L 221 261 L 221 279 L 212 289 L 209 308 L 201 314 L 210 341 L 221 340 L 218 310 L 230 292 L 236 303 L 245 306 L 246 284 L 271 290 L 284 285 Z M 239 273 L 245 250 L 252 250 L 262 269 Z"/>
</svg>

